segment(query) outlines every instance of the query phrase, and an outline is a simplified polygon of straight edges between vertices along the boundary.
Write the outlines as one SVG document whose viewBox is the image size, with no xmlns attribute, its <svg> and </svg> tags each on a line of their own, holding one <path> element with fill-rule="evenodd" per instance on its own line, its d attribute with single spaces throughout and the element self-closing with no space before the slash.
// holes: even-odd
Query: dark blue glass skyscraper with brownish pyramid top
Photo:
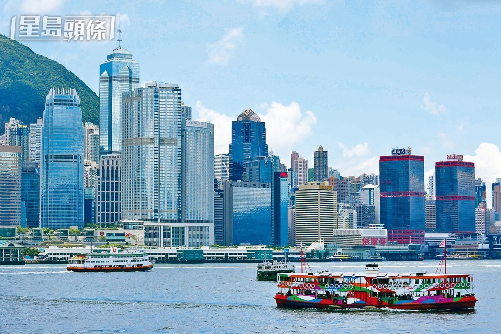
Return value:
<svg viewBox="0 0 501 334">
<path fill-rule="evenodd" d="M 236 121 L 231 123 L 231 144 L 229 144 L 230 180 L 242 180 L 242 174 L 251 158 L 267 157 L 266 127 L 252 109 L 245 109 Z"/>
</svg>

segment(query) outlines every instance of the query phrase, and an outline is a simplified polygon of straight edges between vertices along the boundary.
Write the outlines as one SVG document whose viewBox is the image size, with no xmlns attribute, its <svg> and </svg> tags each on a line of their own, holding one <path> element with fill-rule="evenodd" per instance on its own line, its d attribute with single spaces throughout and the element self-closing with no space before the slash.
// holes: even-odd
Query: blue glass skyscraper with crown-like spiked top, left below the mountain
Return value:
<svg viewBox="0 0 501 334">
<path fill-rule="evenodd" d="M 84 129 L 75 89 L 52 88 L 45 100 L 40 163 L 40 227 L 83 227 Z"/>
</svg>

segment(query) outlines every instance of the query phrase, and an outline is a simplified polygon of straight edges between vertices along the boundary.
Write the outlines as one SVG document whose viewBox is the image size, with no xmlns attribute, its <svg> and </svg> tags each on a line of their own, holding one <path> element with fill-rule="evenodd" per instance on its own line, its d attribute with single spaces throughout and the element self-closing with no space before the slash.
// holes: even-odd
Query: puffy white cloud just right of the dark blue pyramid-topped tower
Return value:
<svg viewBox="0 0 501 334">
<path fill-rule="evenodd" d="M 307 140 L 312 134 L 312 127 L 317 118 L 311 110 L 301 111 L 297 102 L 288 106 L 273 101 L 265 104 L 266 114 L 260 114 L 261 121 L 266 123 L 266 141 L 270 151 L 280 156 L 283 163 L 289 165 L 288 157 L 293 148 Z"/>
</svg>

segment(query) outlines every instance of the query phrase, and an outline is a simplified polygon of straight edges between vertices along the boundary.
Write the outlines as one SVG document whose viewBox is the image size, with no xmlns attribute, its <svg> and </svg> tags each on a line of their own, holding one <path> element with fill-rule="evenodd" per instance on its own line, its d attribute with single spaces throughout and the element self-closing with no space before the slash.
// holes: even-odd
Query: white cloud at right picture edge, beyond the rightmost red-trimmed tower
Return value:
<svg viewBox="0 0 501 334">
<path fill-rule="evenodd" d="M 464 161 L 475 164 L 475 178 L 481 177 L 487 191 L 487 206 L 490 207 L 490 185 L 501 177 L 501 152 L 499 147 L 491 143 L 481 143 L 475 149 L 475 155 L 465 155 Z"/>
</svg>

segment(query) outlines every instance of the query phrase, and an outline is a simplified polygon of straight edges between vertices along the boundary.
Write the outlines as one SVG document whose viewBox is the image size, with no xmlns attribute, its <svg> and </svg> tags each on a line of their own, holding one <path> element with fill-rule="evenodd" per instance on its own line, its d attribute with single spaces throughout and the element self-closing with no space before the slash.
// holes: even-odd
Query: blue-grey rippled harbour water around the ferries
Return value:
<svg viewBox="0 0 501 334">
<path fill-rule="evenodd" d="M 435 272 L 437 264 L 379 263 L 381 272 Z M 311 267 L 362 272 L 364 263 Z M 501 260 L 449 261 L 447 272 L 473 275 L 479 300 L 474 310 L 277 308 L 276 284 L 258 281 L 253 263 L 156 264 L 153 271 L 133 273 L 75 273 L 62 264 L 0 266 L 0 332 L 500 332 Z"/>
</svg>

